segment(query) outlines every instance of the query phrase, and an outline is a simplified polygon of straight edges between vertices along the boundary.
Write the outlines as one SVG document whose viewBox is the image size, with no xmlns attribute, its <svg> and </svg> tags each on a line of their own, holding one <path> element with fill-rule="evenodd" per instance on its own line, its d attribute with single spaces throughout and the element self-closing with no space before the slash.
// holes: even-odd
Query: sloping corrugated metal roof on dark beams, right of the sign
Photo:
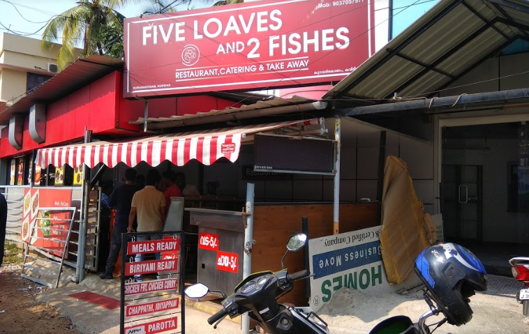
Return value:
<svg viewBox="0 0 529 334">
<path fill-rule="evenodd" d="M 529 38 L 529 1 L 441 0 L 323 98 L 431 95 Z"/>
</svg>

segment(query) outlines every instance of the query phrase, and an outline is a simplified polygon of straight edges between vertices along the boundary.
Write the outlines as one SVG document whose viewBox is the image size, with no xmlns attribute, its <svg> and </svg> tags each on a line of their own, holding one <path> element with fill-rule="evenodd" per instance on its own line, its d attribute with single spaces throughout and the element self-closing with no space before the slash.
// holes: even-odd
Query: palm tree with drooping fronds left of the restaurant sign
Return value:
<svg viewBox="0 0 529 334">
<path fill-rule="evenodd" d="M 117 39 L 123 38 L 124 15 L 114 10 L 114 7 L 131 1 L 134 0 L 79 0 L 77 6 L 50 20 L 44 30 L 40 47 L 49 51 L 55 41 L 62 42 L 57 54 L 59 70 L 64 70 L 75 61 L 74 52 L 77 45 L 82 47 L 84 55 L 107 54 L 109 47 L 117 42 Z M 117 38 L 107 40 L 108 36 Z M 111 52 L 114 56 L 115 53 Z"/>
</svg>

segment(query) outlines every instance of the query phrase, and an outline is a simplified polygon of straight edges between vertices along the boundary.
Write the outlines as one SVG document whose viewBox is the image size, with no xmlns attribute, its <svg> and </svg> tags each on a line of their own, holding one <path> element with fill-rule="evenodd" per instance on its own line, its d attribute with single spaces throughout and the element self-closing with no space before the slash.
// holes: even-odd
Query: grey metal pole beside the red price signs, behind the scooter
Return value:
<svg viewBox="0 0 529 334">
<path fill-rule="evenodd" d="M 242 267 L 242 279 L 244 280 L 252 273 L 252 248 L 253 248 L 253 199 L 255 184 L 246 185 L 246 228 L 244 229 L 244 255 Z M 242 333 L 250 333 L 250 317 L 248 313 L 243 314 L 241 321 Z"/>
</svg>

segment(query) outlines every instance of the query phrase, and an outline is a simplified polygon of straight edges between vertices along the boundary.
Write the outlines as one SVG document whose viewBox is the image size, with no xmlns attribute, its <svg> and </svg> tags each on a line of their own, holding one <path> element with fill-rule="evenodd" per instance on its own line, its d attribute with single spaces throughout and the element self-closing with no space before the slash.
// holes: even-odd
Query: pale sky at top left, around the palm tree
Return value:
<svg viewBox="0 0 529 334">
<path fill-rule="evenodd" d="M 11 33 L 40 40 L 44 30 L 41 28 L 46 25 L 50 17 L 77 6 L 76 2 L 77 0 L 0 0 L 0 32 L 9 30 Z M 195 8 L 204 6 L 201 1 L 195 3 Z M 148 0 L 131 1 L 131 4 L 117 10 L 125 17 L 137 17 L 148 6 Z M 181 10 L 185 9 L 181 8 Z"/>
</svg>

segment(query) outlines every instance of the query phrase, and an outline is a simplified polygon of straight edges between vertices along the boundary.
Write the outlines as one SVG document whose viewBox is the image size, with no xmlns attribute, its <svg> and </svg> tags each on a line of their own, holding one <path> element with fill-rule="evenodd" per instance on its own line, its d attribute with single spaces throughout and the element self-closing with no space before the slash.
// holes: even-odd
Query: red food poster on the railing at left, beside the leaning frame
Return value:
<svg viewBox="0 0 529 334">
<path fill-rule="evenodd" d="M 28 243 L 31 239 L 31 245 L 51 250 L 53 255 L 60 257 L 64 243 L 57 240 L 66 241 L 70 222 L 54 219 L 70 219 L 71 213 L 70 211 L 44 210 L 43 208 L 68 208 L 72 206 L 71 204 L 71 189 L 30 188 L 24 190 L 22 241 Z M 33 227 L 36 227 L 33 236 L 37 236 L 39 239 L 30 238 Z M 64 231 L 59 231 L 59 229 Z"/>
</svg>

